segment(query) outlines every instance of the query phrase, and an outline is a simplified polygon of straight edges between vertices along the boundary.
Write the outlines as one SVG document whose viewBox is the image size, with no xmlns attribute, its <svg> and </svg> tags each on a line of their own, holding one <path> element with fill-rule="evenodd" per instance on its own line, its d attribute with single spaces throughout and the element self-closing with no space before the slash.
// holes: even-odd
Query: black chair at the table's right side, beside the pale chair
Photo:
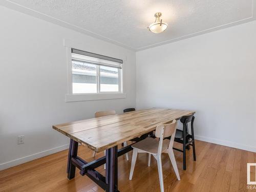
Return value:
<svg viewBox="0 0 256 192">
<path fill-rule="evenodd" d="M 174 141 L 183 144 L 183 150 L 173 147 L 174 150 L 183 153 L 183 169 L 186 170 L 186 149 L 193 146 L 194 161 L 196 161 L 195 137 L 194 137 L 194 114 L 183 116 L 180 121 L 183 124 L 183 130 L 176 130 Z M 191 135 L 188 133 L 188 123 L 191 122 Z"/>
</svg>

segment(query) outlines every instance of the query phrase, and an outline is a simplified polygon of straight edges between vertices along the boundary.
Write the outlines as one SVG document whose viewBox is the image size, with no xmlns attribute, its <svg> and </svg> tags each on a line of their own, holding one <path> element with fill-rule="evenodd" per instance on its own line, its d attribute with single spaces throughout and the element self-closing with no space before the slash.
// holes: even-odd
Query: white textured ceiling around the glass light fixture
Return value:
<svg viewBox="0 0 256 192">
<path fill-rule="evenodd" d="M 3 1 L 3 0 L 2 0 Z M 253 0 L 8 0 L 9 4 L 50 16 L 66 27 L 134 50 L 253 19 Z M 162 12 L 165 32 L 147 26 Z M 55 22 L 56 23 L 56 22 Z M 228 26 L 228 25 L 227 25 Z"/>
</svg>

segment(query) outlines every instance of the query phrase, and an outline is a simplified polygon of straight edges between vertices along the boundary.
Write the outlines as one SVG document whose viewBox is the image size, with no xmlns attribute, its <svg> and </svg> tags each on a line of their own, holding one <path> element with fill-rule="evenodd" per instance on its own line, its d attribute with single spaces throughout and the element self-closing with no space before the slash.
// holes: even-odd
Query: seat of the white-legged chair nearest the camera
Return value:
<svg viewBox="0 0 256 192">
<path fill-rule="evenodd" d="M 162 152 L 168 148 L 170 140 L 163 140 Z M 144 152 L 156 155 L 158 151 L 159 141 L 157 139 L 153 139 L 151 137 L 147 137 L 146 139 L 139 141 L 132 145 L 133 148 L 137 148 L 138 150 L 142 150 Z"/>
</svg>

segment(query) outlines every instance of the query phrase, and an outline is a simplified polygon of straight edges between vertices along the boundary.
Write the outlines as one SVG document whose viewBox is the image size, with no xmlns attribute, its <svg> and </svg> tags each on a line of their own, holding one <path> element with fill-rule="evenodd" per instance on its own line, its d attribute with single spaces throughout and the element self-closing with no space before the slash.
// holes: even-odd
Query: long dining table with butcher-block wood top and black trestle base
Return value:
<svg viewBox="0 0 256 192">
<path fill-rule="evenodd" d="M 194 113 L 195 111 L 151 108 L 53 125 L 54 130 L 70 138 L 68 179 L 75 177 L 78 168 L 81 176 L 88 176 L 105 191 L 119 191 L 117 159 L 133 148 L 130 144 L 118 150 L 118 145 L 140 138 L 141 135 L 153 136 L 156 126 Z M 105 156 L 87 162 L 77 156 L 78 143 L 86 145 L 97 153 L 105 151 Z M 95 170 L 103 164 L 106 164 L 105 176 Z"/>
</svg>

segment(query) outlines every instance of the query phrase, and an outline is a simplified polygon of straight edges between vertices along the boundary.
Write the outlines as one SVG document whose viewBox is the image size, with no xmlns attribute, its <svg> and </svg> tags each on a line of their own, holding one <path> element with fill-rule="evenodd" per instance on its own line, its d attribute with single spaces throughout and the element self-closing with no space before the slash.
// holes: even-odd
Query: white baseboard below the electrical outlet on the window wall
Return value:
<svg viewBox="0 0 256 192">
<path fill-rule="evenodd" d="M 9 168 L 9 167 L 12 167 L 12 166 L 15 166 L 15 165 L 19 165 L 19 164 L 22 164 L 22 163 L 26 163 L 28 161 L 32 161 L 34 159 L 38 159 L 40 157 L 51 155 L 51 154 L 54 154 L 54 153 L 57 153 L 57 152 L 60 152 L 60 151 L 63 151 L 63 150 L 67 150 L 67 148 L 69 148 L 69 144 L 61 145 L 61 146 L 58 146 L 58 147 L 55 147 L 55 148 L 51 148 L 50 150 L 42 151 L 42 152 L 35 153 L 35 154 L 29 155 L 29 156 L 26 156 L 26 157 L 22 157 L 22 158 L 18 158 L 18 159 L 12 160 L 12 161 L 8 161 L 8 162 L 0 164 L 0 170 Z"/>
</svg>

